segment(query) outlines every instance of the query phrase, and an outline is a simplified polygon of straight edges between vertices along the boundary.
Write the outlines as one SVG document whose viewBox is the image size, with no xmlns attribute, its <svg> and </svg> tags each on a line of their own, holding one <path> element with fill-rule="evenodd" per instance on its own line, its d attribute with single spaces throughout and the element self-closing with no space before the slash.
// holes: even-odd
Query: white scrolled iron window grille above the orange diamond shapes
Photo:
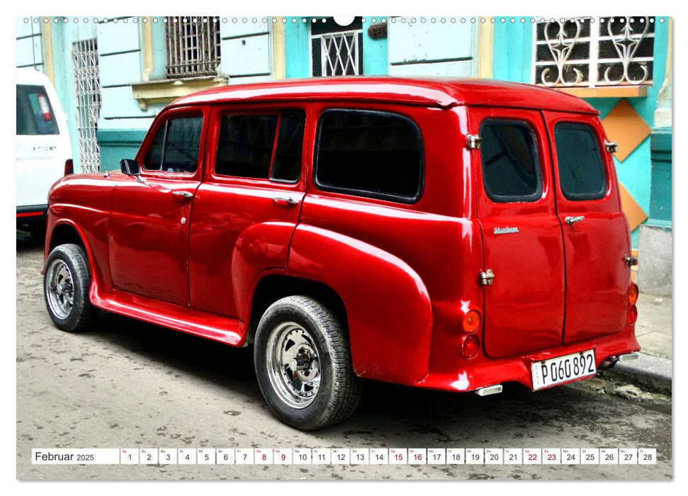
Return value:
<svg viewBox="0 0 688 496">
<path fill-rule="evenodd" d="M 652 84 L 654 18 L 536 23 L 534 82 L 544 86 Z"/>
</svg>

